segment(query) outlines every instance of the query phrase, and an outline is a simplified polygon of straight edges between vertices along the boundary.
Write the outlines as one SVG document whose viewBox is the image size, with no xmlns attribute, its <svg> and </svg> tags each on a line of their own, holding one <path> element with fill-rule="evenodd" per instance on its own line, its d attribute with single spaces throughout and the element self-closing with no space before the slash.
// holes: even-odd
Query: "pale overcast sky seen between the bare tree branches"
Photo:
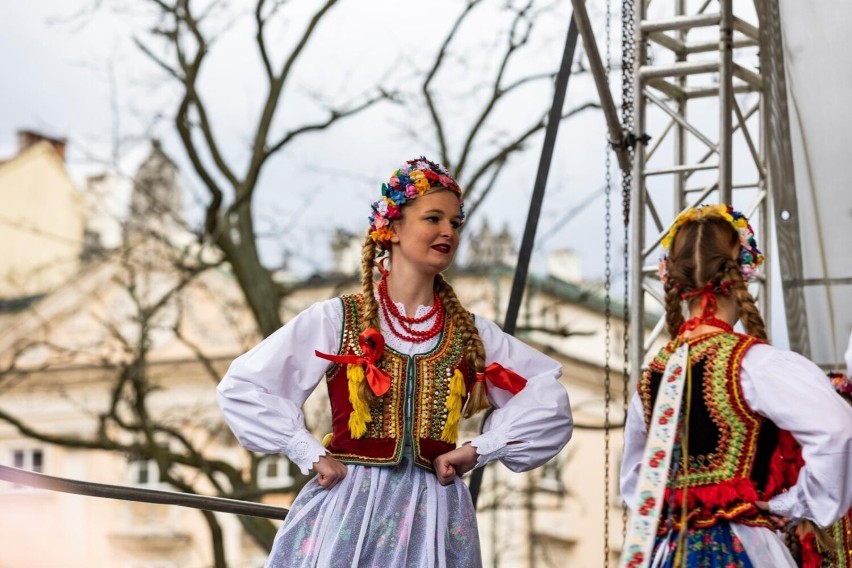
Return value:
<svg viewBox="0 0 852 568">
<path fill-rule="evenodd" d="M 89 15 L 88 8 L 96 4 L 100 9 Z M 19 128 L 66 137 L 70 142 L 69 168 L 82 183 L 87 174 L 104 168 L 99 162 L 113 158 L 112 141 L 116 138 L 123 140 L 118 154 L 120 166 L 125 173 L 132 173 L 148 150 L 144 137 L 153 135 L 161 138 L 166 151 L 186 167 L 169 121 L 174 115 L 176 89 L 132 43 L 134 36 L 149 39 L 145 26 L 151 20 L 138 11 L 138 4 L 92 0 L 3 4 L 0 53 L 3 76 L 9 83 L 0 90 L 0 156 L 15 152 L 14 133 Z M 569 17 L 569 3 L 562 4 L 542 18 L 536 29 L 537 46 L 529 50 L 523 68 L 512 72 L 558 67 Z M 235 5 L 235 12 L 247 8 L 240 2 Z M 279 115 L 280 127 L 296 124 L 310 113 L 319 116 L 308 101 L 312 93 L 345 101 L 357 98 L 377 82 L 393 83 L 413 76 L 425 67 L 426 57 L 434 52 L 462 5 L 459 0 L 439 0 L 430 2 L 427 10 L 426 4 L 413 0 L 340 2 L 297 68 L 285 93 L 289 106 Z M 599 15 L 594 7 L 592 12 Z M 245 18 L 237 21 L 247 22 Z M 288 21 L 289 27 L 272 30 L 271 43 L 279 53 L 290 45 L 292 32 L 288 30 L 298 23 L 299 16 L 295 15 Z M 464 28 L 466 60 L 459 62 L 456 75 L 443 83 L 446 86 L 442 88 L 447 90 L 438 93 L 445 99 L 459 98 L 454 109 L 459 129 L 470 120 L 465 116 L 470 107 L 465 107 L 464 93 L 484 80 L 477 67 L 484 59 L 480 61 L 478 54 L 495 41 L 501 25 L 499 13 L 483 10 L 474 25 Z M 251 33 L 249 26 L 240 23 L 229 28 L 213 46 L 203 76 L 216 132 L 236 164 L 245 155 L 242 148 L 256 121 L 258 93 L 263 88 Z M 547 88 L 531 89 L 501 109 L 501 120 L 506 121 L 507 128 L 513 121 L 521 124 L 545 110 L 549 97 Z M 590 77 L 572 78 L 566 108 L 596 99 Z M 154 120 L 157 116 L 159 121 Z M 419 130 L 425 124 L 423 117 L 406 116 L 391 104 L 380 105 L 327 133 L 305 137 L 270 160 L 257 195 L 261 204 L 258 211 L 264 212 L 259 226 L 271 235 L 264 239 L 266 260 L 272 264 L 279 260 L 280 243 L 286 239 L 297 251 L 297 258 L 292 260 L 296 270 L 310 272 L 312 264 L 327 267 L 326 242 L 333 228 L 342 226 L 361 233 L 366 228 L 369 202 L 377 197 L 381 182 L 396 165 L 410 156 L 432 155 L 433 137 Z M 474 228 L 487 217 L 494 228 L 508 224 L 520 242 L 541 143 L 541 136 L 532 139 L 524 155 L 506 170 L 499 189 L 473 220 Z M 602 196 L 584 211 L 582 223 L 577 218 L 567 224 L 560 224 L 560 220 L 590 194 L 600 191 L 604 146 L 604 123 L 597 111 L 563 123 L 539 227 L 545 237 L 539 252 L 577 249 L 584 256 L 584 274 L 591 279 L 603 273 Z M 204 198 L 190 176 L 187 186 L 189 201 Z M 615 207 L 619 210 L 620 202 Z M 188 209 L 190 216 L 197 211 Z M 289 227 L 286 236 L 281 235 L 282 227 Z M 620 254 L 620 241 L 614 246 Z M 543 270 L 543 255 L 537 257 L 536 266 Z"/>
</svg>

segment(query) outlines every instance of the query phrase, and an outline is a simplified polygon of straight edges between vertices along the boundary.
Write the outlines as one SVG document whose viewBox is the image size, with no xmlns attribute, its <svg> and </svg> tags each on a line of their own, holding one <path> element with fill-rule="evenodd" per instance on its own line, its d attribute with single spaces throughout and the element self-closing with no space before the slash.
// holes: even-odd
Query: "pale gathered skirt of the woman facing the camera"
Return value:
<svg viewBox="0 0 852 568">
<path fill-rule="evenodd" d="M 394 467 L 347 466 L 330 490 L 312 479 L 278 530 L 267 568 L 479 568 L 467 486 L 442 486 L 408 457 Z"/>
</svg>

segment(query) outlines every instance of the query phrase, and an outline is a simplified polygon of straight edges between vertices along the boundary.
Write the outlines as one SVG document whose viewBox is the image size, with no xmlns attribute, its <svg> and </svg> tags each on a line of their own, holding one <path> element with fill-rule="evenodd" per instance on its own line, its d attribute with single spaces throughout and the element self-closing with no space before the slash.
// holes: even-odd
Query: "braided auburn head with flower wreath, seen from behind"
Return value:
<svg viewBox="0 0 852 568">
<path fill-rule="evenodd" d="M 726 206 L 689 209 L 678 217 L 664 243 L 670 252 L 661 261 L 669 335 L 676 337 L 684 323 L 683 298 L 710 287 L 730 288 L 746 331 L 766 339 L 766 326 L 746 282 L 763 260 L 753 235 L 745 216 Z"/>
</svg>

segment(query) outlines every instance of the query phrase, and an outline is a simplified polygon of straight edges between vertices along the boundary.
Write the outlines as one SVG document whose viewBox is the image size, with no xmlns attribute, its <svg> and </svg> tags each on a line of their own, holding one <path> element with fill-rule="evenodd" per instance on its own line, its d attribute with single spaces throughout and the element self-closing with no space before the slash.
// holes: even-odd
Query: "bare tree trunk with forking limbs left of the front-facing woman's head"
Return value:
<svg viewBox="0 0 852 568">
<path fill-rule="evenodd" d="M 255 129 L 251 133 L 248 158 L 243 167 L 235 168 L 226 159 L 219 145 L 213 117 L 209 115 L 199 82 L 201 69 L 206 65 L 211 46 L 217 39 L 217 36 L 209 31 L 210 25 L 205 25 L 204 29 L 201 26 L 202 20 L 212 13 L 212 7 L 199 17 L 193 11 L 189 0 L 149 2 L 158 9 L 162 20 L 159 29 L 154 29 L 151 33 L 162 40 L 174 54 L 175 63 L 157 57 L 151 46 L 144 45 L 141 41 L 138 44 L 143 54 L 158 67 L 166 69 L 167 72 L 171 69 L 169 75 L 177 80 L 182 89 L 174 125 L 192 170 L 210 196 L 204 214 L 204 234 L 215 243 L 230 263 L 255 316 L 258 329 L 264 336 L 269 335 L 281 326 L 278 311 L 281 289 L 272 281 L 270 270 L 261 264 L 256 243 L 258 236 L 255 231 L 252 196 L 261 169 L 273 153 L 292 143 L 300 135 L 329 128 L 339 120 L 362 112 L 394 95 L 379 88 L 377 95 L 368 97 L 359 104 L 331 106 L 325 120 L 293 127 L 270 143 L 273 119 L 284 101 L 284 88 L 294 76 L 296 64 L 315 36 L 319 24 L 338 0 L 324 0 L 316 7 L 299 31 L 295 45 L 282 58 L 277 70 L 274 63 L 275 54 L 266 41 L 265 33 L 272 18 L 288 3 L 284 0 L 256 0 L 251 9 L 254 22 L 253 42 L 268 81 L 268 90 L 263 98 Z M 214 4 L 218 5 L 218 2 Z M 244 173 L 237 173 L 238 169 Z M 229 197 L 233 199 L 226 203 Z"/>
</svg>

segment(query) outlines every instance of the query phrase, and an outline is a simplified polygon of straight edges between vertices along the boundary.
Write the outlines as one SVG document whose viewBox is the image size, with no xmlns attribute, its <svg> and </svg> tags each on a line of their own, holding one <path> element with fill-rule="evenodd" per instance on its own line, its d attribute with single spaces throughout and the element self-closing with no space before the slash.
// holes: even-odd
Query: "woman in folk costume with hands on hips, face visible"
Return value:
<svg viewBox="0 0 852 568">
<path fill-rule="evenodd" d="M 373 204 L 361 293 L 314 304 L 236 359 L 219 385 L 246 448 L 317 474 L 267 566 L 480 566 L 459 476 L 493 460 L 532 469 L 571 437 L 559 363 L 473 317 L 441 276 L 463 221 L 461 189 L 443 166 L 404 164 Z M 323 378 L 326 446 L 301 411 Z M 457 445 L 460 419 L 489 405 L 484 433 Z"/>
</svg>

